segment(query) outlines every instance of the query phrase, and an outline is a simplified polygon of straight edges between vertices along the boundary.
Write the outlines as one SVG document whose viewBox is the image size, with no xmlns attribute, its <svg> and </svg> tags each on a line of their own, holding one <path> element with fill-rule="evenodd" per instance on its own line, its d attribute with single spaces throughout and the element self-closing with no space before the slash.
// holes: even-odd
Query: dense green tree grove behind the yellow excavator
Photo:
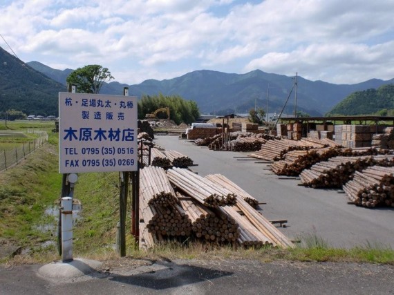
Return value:
<svg viewBox="0 0 394 295">
<path fill-rule="evenodd" d="M 182 122 L 191 124 L 200 116 L 197 103 L 192 100 L 182 99 L 179 95 L 142 95 L 138 102 L 138 119 L 142 120 L 148 113 L 153 113 L 158 108 L 169 107 L 170 119 L 176 124 Z M 158 113 L 158 117 L 167 119 L 167 114 Z"/>
</svg>

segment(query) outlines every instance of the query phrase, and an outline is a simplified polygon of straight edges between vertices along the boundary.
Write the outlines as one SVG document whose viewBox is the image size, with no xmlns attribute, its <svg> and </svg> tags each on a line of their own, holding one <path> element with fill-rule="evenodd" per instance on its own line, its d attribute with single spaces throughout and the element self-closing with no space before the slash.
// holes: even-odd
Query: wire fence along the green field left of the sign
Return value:
<svg viewBox="0 0 394 295">
<path fill-rule="evenodd" d="M 15 149 L 0 151 L 0 172 L 15 166 L 26 159 L 28 155 L 37 151 L 40 146 L 48 143 L 48 134 L 45 131 L 32 131 L 32 133 L 33 132 L 39 134 L 37 139 L 23 143 Z"/>
</svg>

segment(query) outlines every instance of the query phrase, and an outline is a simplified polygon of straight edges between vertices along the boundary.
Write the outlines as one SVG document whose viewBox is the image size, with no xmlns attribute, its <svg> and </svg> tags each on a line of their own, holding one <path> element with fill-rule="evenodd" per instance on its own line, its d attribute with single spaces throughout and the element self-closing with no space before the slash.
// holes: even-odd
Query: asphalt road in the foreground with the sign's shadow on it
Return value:
<svg viewBox="0 0 394 295">
<path fill-rule="evenodd" d="M 0 294 L 394 294 L 391 265 L 123 258 L 110 269 L 50 280 L 39 267 L 0 266 Z"/>
</svg>

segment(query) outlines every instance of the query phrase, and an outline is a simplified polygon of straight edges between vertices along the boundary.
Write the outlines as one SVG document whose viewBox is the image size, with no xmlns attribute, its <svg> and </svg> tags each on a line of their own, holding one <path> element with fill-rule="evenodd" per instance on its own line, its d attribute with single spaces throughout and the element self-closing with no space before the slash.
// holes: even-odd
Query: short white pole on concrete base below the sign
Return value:
<svg viewBox="0 0 394 295">
<path fill-rule="evenodd" d="M 73 260 L 73 198 L 62 198 L 62 257 Z"/>
</svg>

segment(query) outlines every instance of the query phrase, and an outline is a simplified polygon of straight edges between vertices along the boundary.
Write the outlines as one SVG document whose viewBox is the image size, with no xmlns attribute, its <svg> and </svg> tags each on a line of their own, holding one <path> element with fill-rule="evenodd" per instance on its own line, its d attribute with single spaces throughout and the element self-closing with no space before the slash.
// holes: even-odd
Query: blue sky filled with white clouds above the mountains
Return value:
<svg viewBox="0 0 394 295">
<path fill-rule="evenodd" d="M 0 16 L 19 59 L 100 64 L 126 84 L 203 69 L 394 78 L 394 0 L 1 0 Z"/>
</svg>

